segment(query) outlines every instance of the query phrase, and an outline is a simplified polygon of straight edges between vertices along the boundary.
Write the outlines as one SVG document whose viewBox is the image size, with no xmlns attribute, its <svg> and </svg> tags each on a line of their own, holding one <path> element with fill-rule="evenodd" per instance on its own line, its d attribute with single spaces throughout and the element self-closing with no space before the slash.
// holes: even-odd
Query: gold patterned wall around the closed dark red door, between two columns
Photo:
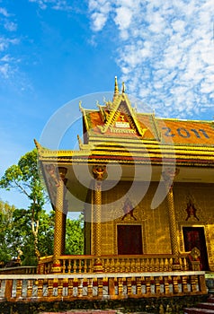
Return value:
<svg viewBox="0 0 214 314">
<path fill-rule="evenodd" d="M 118 254 L 118 224 L 141 225 L 143 254 L 171 253 L 165 202 L 159 205 L 156 209 L 151 209 L 151 199 L 155 194 L 156 187 L 156 183 L 151 183 L 149 186 L 149 183 L 140 182 L 138 182 L 135 187 L 131 187 L 131 183 L 128 181 L 120 182 L 113 187 L 113 189 L 110 189 L 107 186 L 103 187 L 103 255 Z M 130 191 L 129 195 L 128 191 Z M 124 217 L 124 204 L 127 198 L 129 198 L 132 205 L 134 205 L 135 201 L 139 201 L 139 203 L 135 206 L 133 216 L 131 216 L 131 214 L 127 214 L 127 216 Z"/>
</svg>

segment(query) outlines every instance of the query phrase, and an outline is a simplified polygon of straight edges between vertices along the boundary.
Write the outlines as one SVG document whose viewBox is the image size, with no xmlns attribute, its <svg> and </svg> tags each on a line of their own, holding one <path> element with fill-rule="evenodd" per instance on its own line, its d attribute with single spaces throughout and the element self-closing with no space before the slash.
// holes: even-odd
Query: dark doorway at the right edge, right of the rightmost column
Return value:
<svg viewBox="0 0 214 314">
<path fill-rule="evenodd" d="M 198 248 L 201 251 L 201 270 L 209 270 L 208 252 L 203 227 L 183 227 L 185 251 Z"/>
</svg>

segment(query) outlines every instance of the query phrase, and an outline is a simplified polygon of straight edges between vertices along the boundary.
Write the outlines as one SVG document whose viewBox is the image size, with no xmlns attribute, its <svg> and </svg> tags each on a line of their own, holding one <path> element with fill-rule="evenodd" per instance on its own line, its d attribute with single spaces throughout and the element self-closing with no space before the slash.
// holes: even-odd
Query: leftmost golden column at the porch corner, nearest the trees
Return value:
<svg viewBox="0 0 214 314">
<path fill-rule="evenodd" d="M 65 201 L 65 179 L 67 168 L 58 167 L 56 181 L 57 196 L 55 205 L 55 227 L 54 227 L 54 252 L 53 252 L 53 266 L 52 272 L 59 273 L 61 271 L 60 260 L 58 257 L 64 254 L 65 251 L 65 233 L 66 233 L 66 214 L 64 213 Z"/>
</svg>

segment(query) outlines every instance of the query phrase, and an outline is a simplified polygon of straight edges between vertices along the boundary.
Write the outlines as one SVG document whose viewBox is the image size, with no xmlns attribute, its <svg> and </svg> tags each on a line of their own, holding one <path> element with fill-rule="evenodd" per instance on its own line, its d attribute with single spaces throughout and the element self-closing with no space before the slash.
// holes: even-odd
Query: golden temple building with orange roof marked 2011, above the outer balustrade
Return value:
<svg viewBox="0 0 214 314">
<path fill-rule="evenodd" d="M 56 211 L 40 273 L 214 271 L 214 122 L 138 112 L 117 79 L 111 100 L 79 107 L 78 150 L 35 142 Z M 68 212 L 84 213 L 82 257 L 65 255 Z"/>
</svg>

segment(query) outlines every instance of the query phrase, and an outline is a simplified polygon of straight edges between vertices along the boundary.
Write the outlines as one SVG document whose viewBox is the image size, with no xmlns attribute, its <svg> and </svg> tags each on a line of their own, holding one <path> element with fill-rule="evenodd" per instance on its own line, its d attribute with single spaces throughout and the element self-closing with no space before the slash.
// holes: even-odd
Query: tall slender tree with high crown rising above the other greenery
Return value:
<svg viewBox="0 0 214 314">
<path fill-rule="evenodd" d="M 40 257 L 38 246 L 38 232 L 40 214 L 45 204 L 46 192 L 41 184 L 37 167 L 37 150 L 23 155 L 17 165 L 13 165 L 4 172 L 0 180 L 0 188 L 16 189 L 30 201 L 29 213 L 31 216 L 31 234 L 33 249 L 37 258 Z"/>
</svg>

